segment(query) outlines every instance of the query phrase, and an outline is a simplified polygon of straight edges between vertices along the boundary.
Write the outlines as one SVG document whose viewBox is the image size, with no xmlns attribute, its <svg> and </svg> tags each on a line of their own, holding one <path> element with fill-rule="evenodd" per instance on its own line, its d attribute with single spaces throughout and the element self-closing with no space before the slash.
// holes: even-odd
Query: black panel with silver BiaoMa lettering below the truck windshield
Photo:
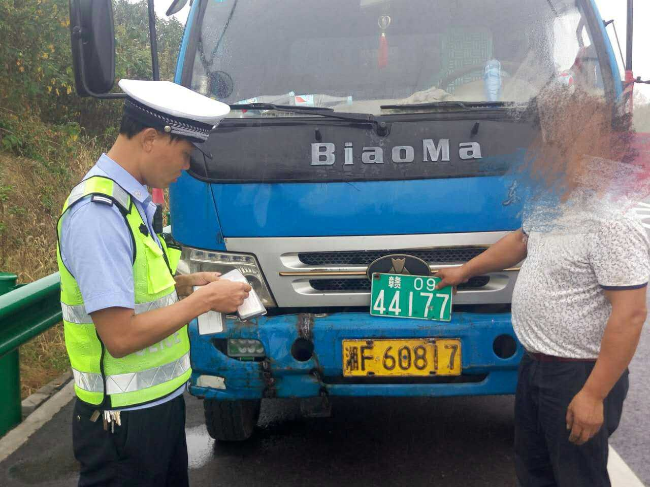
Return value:
<svg viewBox="0 0 650 487">
<path fill-rule="evenodd" d="M 387 124 L 388 134 L 379 136 L 368 123 L 332 119 L 225 119 L 205 142 L 212 160 L 205 158 L 204 164 L 201 153 L 195 151 L 190 173 L 220 183 L 502 175 L 521 160 L 522 150 L 538 134 L 529 121 L 503 114 L 409 118 Z M 383 164 L 378 164 L 376 153 L 381 153 Z"/>
</svg>

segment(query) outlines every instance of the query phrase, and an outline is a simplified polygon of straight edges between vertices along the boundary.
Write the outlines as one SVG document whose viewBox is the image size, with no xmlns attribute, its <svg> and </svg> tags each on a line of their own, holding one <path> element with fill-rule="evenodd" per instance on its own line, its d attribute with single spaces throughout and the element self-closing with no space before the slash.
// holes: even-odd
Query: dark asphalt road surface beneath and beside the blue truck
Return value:
<svg viewBox="0 0 650 487">
<path fill-rule="evenodd" d="M 631 366 L 612 443 L 650 486 L 650 327 Z M 214 442 L 201 401 L 187 396 L 193 486 L 515 486 L 510 396 L 334 399 L 330 418 L 302 418 L 298 401 L 265 401 L 252 440 Z M 0 485 L 70 486 L 72 401 L 0 463 Z"/>
</svg>

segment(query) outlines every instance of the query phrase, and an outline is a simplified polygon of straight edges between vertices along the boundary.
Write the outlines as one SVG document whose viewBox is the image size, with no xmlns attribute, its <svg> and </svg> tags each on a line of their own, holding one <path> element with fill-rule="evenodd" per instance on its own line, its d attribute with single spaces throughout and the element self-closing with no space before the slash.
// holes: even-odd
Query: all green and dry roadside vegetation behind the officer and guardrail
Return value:
<svg viewBox="0 0 650 487">
<path fill-rule="evenodd" d="M 146 1 L 113 4 L 116 81 L 151 79 Z M 68 8 L 68 0 L 0 0 L 0 271 L 18 282 L 57 271 L 62 203 L 110 147 L 122 111 L 120 101 L 75 94 Z M 182 34 L 176 19 L 157 19 L 162 79 L 174 78 Z M 20 354 L 23 397 L 70 366 L 62 325 Z"/>
</svg>

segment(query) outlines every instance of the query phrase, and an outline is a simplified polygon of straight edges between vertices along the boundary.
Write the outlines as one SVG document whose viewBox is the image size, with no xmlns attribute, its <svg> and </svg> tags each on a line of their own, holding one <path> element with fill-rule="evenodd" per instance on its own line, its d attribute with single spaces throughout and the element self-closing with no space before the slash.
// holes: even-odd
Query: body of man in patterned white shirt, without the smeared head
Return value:
<svg viewBox="0 0 650 487">
<path fill-rule="evenodd" d="M 526 349 L 515 396 L 515 468 L 524 487 L 610 485 L 608 437 L 645 321 L 650 244 L 629 216 L 593 223 L 581 233 L 525 223 L 438 273 L 439 287 L 456 286 L 524 261 L 512 296 L 513 328 Z"/>
</svg>

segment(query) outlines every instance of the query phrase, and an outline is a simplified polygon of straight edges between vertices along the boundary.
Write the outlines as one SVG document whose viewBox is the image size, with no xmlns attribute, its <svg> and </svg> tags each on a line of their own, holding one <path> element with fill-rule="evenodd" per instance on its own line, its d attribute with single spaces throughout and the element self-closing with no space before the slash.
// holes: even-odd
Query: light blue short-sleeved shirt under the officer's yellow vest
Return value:
<svg viewBox="0 0 650 487">
<path fill-rule="evenodd" d="M 153 214 L 156 206 L 151 201 L 147 186 L 106 154 L 102 154 L 83 179 L 105 176 L 117 182 L 131 195 L 135 208 L 153 235 Z M 133 243 L 131 232 L 116 205 L 92 202 L 85 197 L 66 213 L 61 222 L 61 260 L 79 284 L 88 314 L 118 306 L 135 309 L 133 284 Z M 170 401 L 181 395 L 185 386 L 174 393 L 141 409 Z"/>
</svg>

